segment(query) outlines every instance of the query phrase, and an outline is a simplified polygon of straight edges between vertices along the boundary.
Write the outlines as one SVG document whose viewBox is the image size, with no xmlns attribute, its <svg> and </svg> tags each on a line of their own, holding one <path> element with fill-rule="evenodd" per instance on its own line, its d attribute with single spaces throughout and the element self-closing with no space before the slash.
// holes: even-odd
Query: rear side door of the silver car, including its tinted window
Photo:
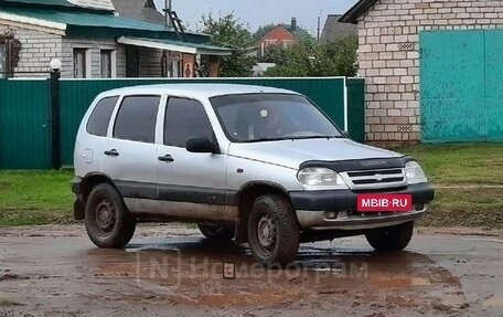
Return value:
<svg viewBox="0 0 503 317">
<path fill-rule="evenodd" d="M 156 125 L 161 96 L 125 96 L 113 117 L 104 168 L 127 199 L 158 197 Z"/>
</svg>

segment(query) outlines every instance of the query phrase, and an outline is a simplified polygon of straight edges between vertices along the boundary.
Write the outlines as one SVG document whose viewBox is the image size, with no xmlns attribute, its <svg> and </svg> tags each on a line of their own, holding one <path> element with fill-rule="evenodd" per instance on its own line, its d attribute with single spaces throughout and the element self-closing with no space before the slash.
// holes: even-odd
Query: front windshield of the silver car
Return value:
<svg viewBox="0 0 503 317">
<path fill-rule="evenodd" d="M 287 94 L 244 94 L 211 98 L 227 137 L 235 142 L 342 138 L 309 99 Z"/>
</svg>

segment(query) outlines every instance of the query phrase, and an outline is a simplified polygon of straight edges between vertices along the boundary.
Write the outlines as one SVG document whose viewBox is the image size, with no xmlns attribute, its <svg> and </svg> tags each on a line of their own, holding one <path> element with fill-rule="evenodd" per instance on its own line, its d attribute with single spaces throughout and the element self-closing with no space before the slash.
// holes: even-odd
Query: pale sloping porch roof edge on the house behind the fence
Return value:
<svg viewBox="0 0 503 317">
<path fill-rule="evenodd" d="M 228 56 L 232 54 L 231 49 L 218 47 L 207 44 L 197 44 L 192 42 L 161 40 L 161 39 L 139 39 L 139 38 L 119 38 L 118 43 L 141 47 L 150 47 L 165 51 L 175 51 L 194 55 L 217 55 Z"/>
</svg>

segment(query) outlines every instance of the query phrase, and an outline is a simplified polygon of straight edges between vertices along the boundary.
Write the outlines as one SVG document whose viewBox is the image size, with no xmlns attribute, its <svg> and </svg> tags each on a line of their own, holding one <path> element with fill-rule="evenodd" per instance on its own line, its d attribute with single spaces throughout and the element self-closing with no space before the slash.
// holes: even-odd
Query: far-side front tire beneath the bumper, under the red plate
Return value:
<svg viewBox="0 0 503 317">
<path fill-rule="evenodd" d="M 375 251 L 394 252 L 407 247 L 413 237 L 414 222 L 407 222 L 389 228 L 375 229 L 365 234 Z"/>
</svg>

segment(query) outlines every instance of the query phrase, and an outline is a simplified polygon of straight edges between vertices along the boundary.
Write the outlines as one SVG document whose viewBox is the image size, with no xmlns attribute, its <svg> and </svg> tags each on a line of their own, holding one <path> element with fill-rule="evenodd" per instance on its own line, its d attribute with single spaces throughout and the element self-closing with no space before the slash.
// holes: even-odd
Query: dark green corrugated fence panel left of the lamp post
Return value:
<svg viewBox="0 0 503 317">
<path fill-rule="evenodd" d="M 49 82 L 0 81 L 0 168 L 50 168 Z"/>
</svg>

